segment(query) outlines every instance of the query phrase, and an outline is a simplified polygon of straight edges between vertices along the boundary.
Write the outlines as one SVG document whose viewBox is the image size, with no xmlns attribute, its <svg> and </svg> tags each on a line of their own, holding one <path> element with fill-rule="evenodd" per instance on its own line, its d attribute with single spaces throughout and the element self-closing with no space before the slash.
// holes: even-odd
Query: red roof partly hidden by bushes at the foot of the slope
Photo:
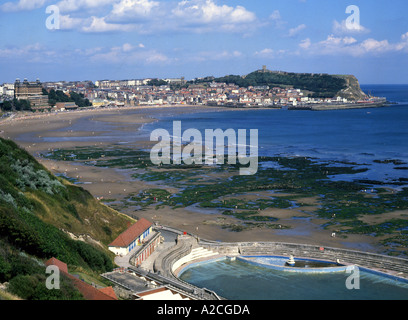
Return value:
<svg viewBox="0 0 408 320">
<path fill-rule="evenodd" d="M 49 259 L 48 261 L 45 262 L 45 265 L 57 266 L 59 271 L 74 283 L 74 286 L 78 289 L 79 292 L 82 293 L 86 300 L 118 300 L 115 291 L 113 291 L 112 287 L 97 289 L 91 286 L 90 284 L 68 273 L 67 264 L 56 258 Z"/>
</svg>

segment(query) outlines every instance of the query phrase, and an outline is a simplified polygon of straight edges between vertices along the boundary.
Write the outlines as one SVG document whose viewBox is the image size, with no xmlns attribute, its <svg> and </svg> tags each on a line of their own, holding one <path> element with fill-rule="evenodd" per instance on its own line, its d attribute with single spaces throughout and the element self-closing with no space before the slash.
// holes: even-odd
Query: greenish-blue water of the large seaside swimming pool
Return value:
<svg viewBox="0 0 408 320">
<path fill-rule="evenodd" d="M 358 278 L 356 275 L 284 272 L 223 259 L 191 265 L 179 277 L 230 300 L 408 299 L 408 283 L 364 270 L 359 270 Z M 348 289 L 347 281 L 359 289 Z"/>
</svg>

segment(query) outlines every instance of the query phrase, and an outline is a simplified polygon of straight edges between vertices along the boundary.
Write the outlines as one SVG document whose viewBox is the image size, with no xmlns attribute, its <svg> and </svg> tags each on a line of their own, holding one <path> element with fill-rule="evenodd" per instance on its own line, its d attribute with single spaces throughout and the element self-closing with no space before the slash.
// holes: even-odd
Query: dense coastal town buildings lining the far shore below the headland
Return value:
<svg viewBox="0 0 408 320">
<path fill-rule="evenodd" d="M 208 78 L 208 77 L 207 77 Z M 208 80 L 206 78 L 206 80 Z M 239 87 L 231 83 L 201 82 L 199 78 L 187 82 L 183 77 L 168 79 L 131 79 L 131 80 L 98 80 L 43 82 L 39 80 L 0 86 L 1 100 L 28 99 L 35 109 L 47 105 L 47 96 L 42 89 L 59 90 L 70 95 L 81 94 L 92 103 L 92 107 L 123 106 L 171 106 L 202 105 L 227 107 L 304 107 L 318 104 L 350 104 L 344 97 L 316 98 L 310 92 L 290 86 L 249 86 Z M 47 106 L 49 107 L 49 106 Z M 67 111 L 74 107 L 56 106 L 51 111 Z"/>
</svg>

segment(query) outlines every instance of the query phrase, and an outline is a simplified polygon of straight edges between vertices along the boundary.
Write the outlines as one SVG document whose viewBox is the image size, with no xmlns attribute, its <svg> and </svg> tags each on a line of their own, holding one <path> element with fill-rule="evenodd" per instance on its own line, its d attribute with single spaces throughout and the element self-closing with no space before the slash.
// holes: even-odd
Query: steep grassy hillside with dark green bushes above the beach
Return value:
<svg viewBox="0 0 408 320">
<path fill-rule="evenodd" d="M 0 283 L 8 282 L 10 293 L 23 299 L 80 298 L 69 281 L 63 280 L 58 293 L 46 290 L 43 262 L 55 257 L 70 271 L 96 276 L 112 270 L 106 245 L 129 219 L 0 138 Z"/>
</svg>

